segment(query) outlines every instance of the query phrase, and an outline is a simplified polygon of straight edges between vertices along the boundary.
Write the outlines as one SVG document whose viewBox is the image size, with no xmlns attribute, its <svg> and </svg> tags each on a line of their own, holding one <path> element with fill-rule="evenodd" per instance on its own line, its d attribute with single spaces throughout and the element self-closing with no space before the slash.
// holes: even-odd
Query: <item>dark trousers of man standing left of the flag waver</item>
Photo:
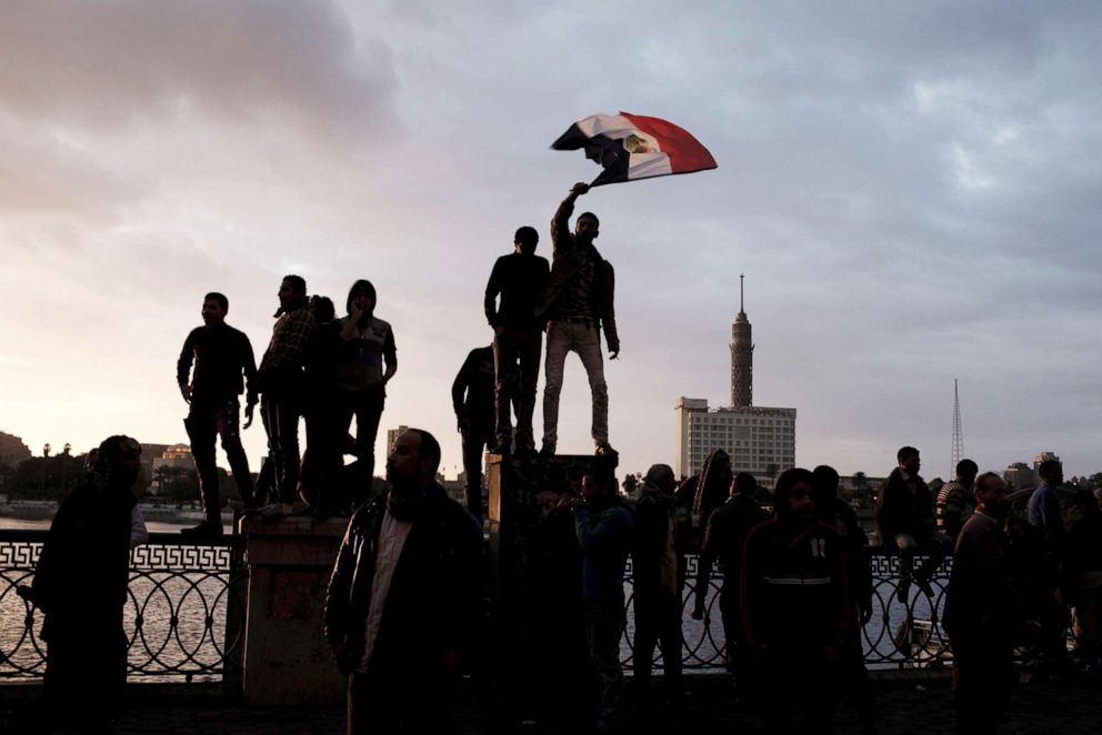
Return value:
<svg viewBox="0 0 1102 735">
<path fill-rule="evenodd" d="M 534 330 L 505 329 L 493 338 L 493 403 L 500 444 L 508 446 L 512 440 L 513 427 L 509 415 L 512 399 L 517 409 L 517 447 L 535 449 L 532 414 L 535 413 L 535 385 L 540 376 L 542 348 L 543 335 Z"/>
</svg>

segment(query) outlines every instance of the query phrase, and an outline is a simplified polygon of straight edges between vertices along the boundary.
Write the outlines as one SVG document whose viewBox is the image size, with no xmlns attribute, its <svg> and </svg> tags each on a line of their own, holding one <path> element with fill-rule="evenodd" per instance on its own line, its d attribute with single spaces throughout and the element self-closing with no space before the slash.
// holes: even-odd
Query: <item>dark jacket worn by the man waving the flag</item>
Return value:
<svg viewBox="0 0 1102 735">
<path fill-rule="evenodd" d="M 562 295 L 567 284 L 577 278 L 584 256 L 582 246 L 570 232 L 570 215 L 574 211 L 572 201 L 563 201 L 551 220 L 551 275 L 543 299 L 537 308 L 537 315 L 547 319 L 554 314 L 555 302 Z M 593 309 L 593 322 L 604 330 L 604 341 L 610 352 L 620 351 L 620 336 L 617 333 L 617 314 L 614 306 L 615 272 L 612 264 L 601 258 L 597 248 L 590 245 L 590 255 L 594 260 L 593 291 L 590 293 L 590 304 Z"/>
</svg>

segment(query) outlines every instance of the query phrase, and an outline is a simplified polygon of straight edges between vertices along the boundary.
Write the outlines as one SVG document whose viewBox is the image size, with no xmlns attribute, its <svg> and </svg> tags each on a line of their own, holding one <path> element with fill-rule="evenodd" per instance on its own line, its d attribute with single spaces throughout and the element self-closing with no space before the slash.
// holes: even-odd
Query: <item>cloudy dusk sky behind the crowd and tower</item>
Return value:
<svg viewBox="0 0 1102 735">
<path fill-rule="evenodd" d="M 669 8 L 0 3 L 0 430 L 36 454 L 183 442 L 203 293 L 259 359 L 282 275 L 339 305 L 367 278 L 398 345 L 380 466 L 415 425 L 454 476 L 493 261 L 522 224 L 550 255 L 599 173 L 551 142 L 623 110 L 719 168 L 580 202 L 617 269 L 622 471 L 673 464 L 678 396 L 729 402 L 740 273 L 754 403 L 798 409 L 798 464 L 880 476 L 912 444 L 948 476 L 955 379 L 981 470 L 1102 471 L 1102 6 Z M 592 451 L 589 402 L 571 356 L 560 453 Z M 259 420 L 243 437 L 256 470 Z"/>
</svg>

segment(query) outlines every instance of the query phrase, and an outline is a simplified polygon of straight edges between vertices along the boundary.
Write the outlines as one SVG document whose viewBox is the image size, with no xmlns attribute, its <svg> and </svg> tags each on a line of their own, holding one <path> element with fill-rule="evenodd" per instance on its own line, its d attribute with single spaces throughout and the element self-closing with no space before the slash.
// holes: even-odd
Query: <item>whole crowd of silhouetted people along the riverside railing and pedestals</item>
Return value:
<svg viewBox="0 0 1102 735">
<path fill-rule="evenodd" d="M 787 469 L 770 493 L 751 474 L 735 474 L 730 456 L 717 451 L 699 475 L 680 484 L 671 467 L 655 464 L 629 496 L 618 492 L 601 349 L 603 332 L 609 358 L 620 351 L 613 269 L 593 246 L 597 215 L 583 213 L 569 229 L 574 203 L 587 191 L 575 184 L 555 212 L 552 263 L 535 255 L 539 234 L 524 226 L 513 252 L 492 269 L 484 306 L 493 342 L 470 352 L 452 384 L 468 475 L 465 509 L 437 482 L 440 443 L 423 430 L 398 436 L 389 447 L 385 484 L 380 490 L 372 482 L 385 386 L 398 361 L 393 329 L 375 315 L 371 282 L 351 285 L 338 318 L 330 299 L 311 298 L 302 278 L 285 276 L 259 366 L 248 336 L 226 323 L 229 300 L 208 293 L 203 326 L 188 335 L 177 364 L 203 505 L 202 522 L 186 533 L 198 541 L 222 534 L 219 439 L 246 512 L 280 517 L 354 510 L 325 596 L 327 640 L 349 674 L 349 732 L 445 732 L 455 676 L 479 645 L 482 454 L 489 450 L 518 463 L 555 455 L 563 362 L 577 352 L 589 376 L 595 454 L 558 509 L 572 515 L 580 558 L 592 728 L 617 732 L 625 703 L 651 703 L 655 647 L 668 701 L 674 708 L 684 705 L 687 554 L 699 552 L 690 616 L 709 614 L 707 593 L 718 571 L 725 658 L 740 702 L 760 712 L 764 731 L 789 732 L 799 712 L 804 732 L 829 732 L 835 703 L 846 695 L 864 732 L 875 732 L 861 635 L 873 613 L 869 537 L 839 497 L 835 470 Z M 542 333 L 543 441 L 537 452 Z M 239 425 L 242 395 L 246 421 Z M 252 423 L 258 404 L 269 451 L 253 486 L 240 431 Z M 307 446 L 300 455 L 303 419 Z M 77 697 L 109 722 L 126 672 L 122 608 L 141 447 L 113 436 L 98 452 L 86 480 L 61 505 L 34 585 L 24 594 L 46 614 L 48 694 L 57 702 Z M 354 461 L 345 465 L 349 454 Z M 1025 518 L 1009 513 L 1002 479 L 979 474 L 974 462 L 962 461 L 936 494 L 920 467 L 916 449 L 899 451 L 876 494 L 880 543 L 898 556 L 895 594 L 904 604 L 912 586 L 936 597 L 931 583 L 953 554 L 943 623 L 954 654 L 960 731 L 994 732 L 1012 688 L 1014 646 L 1034 644 L 1044 669 L 1059 675 L 1066 664 L 1070 607 L 1076 611 L 1080 653 L 1098 664 L 1102 512 L 1093 496 L 1079 497 L 1081 520 L 1064 526 L 1059 462 L 1041 464 L 1042 482 Z M 266 497 L 270 503 L 263 505 Z M 919 556 L 923 562 L 915 567 Z M 629 558 L 634 676 L 625 693 L 620 641 Z M 108 584 L 100 582 L 104 574 Z M 97 677 L 93 691 L 78 691 L 84 682 L 78 663 L 89 658 L 114 674 Z M 423 706 L 425 697 L 434 706 Z"/>
</svg>

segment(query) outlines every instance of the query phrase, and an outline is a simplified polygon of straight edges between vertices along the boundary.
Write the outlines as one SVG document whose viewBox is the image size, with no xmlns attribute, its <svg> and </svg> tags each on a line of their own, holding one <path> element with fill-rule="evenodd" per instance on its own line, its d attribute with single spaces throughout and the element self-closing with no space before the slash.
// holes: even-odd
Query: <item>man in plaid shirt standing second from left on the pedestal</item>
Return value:
<svg viewBox="0 0 1102 735">
<path fill-rule="evenodd" d="M 302 365 L 313 326 L 307 282 L 299 275 L 284 276 L 272 339 L 260 360 L 260 415 L 268 432 L 268 456 L 278 493 L 268 509 L 273 515 L 292 512 L 298 493 L 299 417 L 305 400 Z M 274 505 L 277 502 L 281 506 Z"/>
</svg>

